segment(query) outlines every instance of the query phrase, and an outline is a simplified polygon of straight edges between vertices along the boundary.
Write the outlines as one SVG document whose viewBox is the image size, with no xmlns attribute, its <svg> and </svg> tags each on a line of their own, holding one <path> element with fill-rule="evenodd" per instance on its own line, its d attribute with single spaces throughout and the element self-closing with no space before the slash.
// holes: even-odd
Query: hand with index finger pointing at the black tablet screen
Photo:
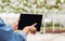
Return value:
<svg viewBox="0 0 65 41">
<path fill-rule="evenodd" d="M 25 35 L 28 35 L 28 32 L 31 32 L 31 33 L 36 33 L 36 31 L 37 31 L 37 29 L 36 29 L 36 26 L 37 25 L 37 23 L 35 23 L 35 24 L 32 24 L 31 26 L 26 26 L 24 29 L 23 29 L 23 32 L 25 33 Z"/>
</svg>

